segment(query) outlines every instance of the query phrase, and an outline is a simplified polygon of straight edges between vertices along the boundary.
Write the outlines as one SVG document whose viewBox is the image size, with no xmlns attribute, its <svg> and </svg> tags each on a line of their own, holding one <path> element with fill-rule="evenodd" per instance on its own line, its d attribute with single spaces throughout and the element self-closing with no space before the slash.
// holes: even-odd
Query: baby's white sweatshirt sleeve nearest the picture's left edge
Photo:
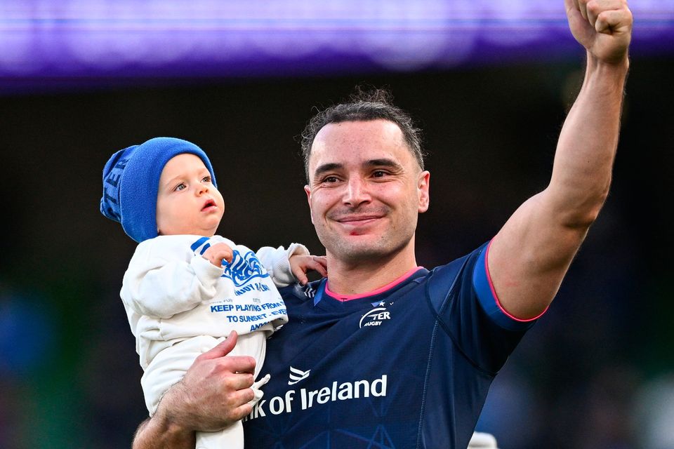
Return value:
<svg viewBox="0 0 674 449">
<path fill-rule="evenodd" d="M 223 268 L 173 239 L 138 245 L 124 274 L 121 299 L 137 314 L 170 318 L 216 295 Z"/>
</svg>

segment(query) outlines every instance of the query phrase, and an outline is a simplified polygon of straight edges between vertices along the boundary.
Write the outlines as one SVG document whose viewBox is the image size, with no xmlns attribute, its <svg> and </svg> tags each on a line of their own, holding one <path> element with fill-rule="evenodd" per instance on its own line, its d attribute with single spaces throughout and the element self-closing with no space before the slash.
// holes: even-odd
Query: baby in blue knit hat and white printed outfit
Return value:
<svg viewBox="0 0 674 449">
<path fill-rule="evenodd" d="M 324 257 L 300 244 L 257 253 L 215 235 L 225 212 L 208 156 L 176 138 L 154 138 L 121 149 L 103 169 L 100 211 L 139 243 L 124 274 L 121 299 L 136 336 L 141 380 L 150 415 L 194 358 L 239 334 L 232 355 L 265 358 L 265 340 L 288 321 L 276 286 L 300 281 Z M 276 285 L 276 286 L 275 286 Z M 253 384 L 259 390 L 268 375 Z M 197 433 L 197 449 L 243 448 L 237 422 Z"/>
</svg>

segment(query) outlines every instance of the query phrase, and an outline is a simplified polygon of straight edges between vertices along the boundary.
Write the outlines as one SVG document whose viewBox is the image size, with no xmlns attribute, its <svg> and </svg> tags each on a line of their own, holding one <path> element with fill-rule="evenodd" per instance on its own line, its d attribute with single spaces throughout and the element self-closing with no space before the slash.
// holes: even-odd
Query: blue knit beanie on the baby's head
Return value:
<svg viewBox="0 0 674 449">
<path fill-rule="evenodd" d="M 201 148 L 187 140 L 154 138 L 120 149 L 107 161 L 100 212 L 120 222 L 124 232 L 138 243 L 156 237 L 161 170 L 173 156 L 183 153 L 196 154 L 204 161 L 217 188 L 211 161 Z"/>
</svg>

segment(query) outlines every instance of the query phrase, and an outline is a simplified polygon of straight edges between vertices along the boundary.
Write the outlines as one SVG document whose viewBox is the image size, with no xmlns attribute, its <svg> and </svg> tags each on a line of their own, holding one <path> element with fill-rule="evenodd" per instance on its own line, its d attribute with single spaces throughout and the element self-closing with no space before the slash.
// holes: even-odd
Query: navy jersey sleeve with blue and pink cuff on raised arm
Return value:
<svg viewBox="0 0 674 449">
<path fill-rule="evenodd" d="M 498 303 L 487 272 L 485 243 L 433 270 L 428 299 L 442 329 L 473 365 L 496 374 L 536 319 L 510 316 Z"/>
</svg>

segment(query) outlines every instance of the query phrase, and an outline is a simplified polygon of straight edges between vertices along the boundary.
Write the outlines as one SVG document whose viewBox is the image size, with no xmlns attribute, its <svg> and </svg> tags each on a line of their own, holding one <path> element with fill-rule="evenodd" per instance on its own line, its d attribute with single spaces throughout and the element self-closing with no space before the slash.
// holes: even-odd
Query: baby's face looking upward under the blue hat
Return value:
<svg viewBox="0 0 674 449">
<path fill-rule="evenodd" d="M 225 213 L 225 201 L 199 156 L 174 156 L 161 170 L 157 192 L 159 235 L 211 237 Z"/>
</svg>

